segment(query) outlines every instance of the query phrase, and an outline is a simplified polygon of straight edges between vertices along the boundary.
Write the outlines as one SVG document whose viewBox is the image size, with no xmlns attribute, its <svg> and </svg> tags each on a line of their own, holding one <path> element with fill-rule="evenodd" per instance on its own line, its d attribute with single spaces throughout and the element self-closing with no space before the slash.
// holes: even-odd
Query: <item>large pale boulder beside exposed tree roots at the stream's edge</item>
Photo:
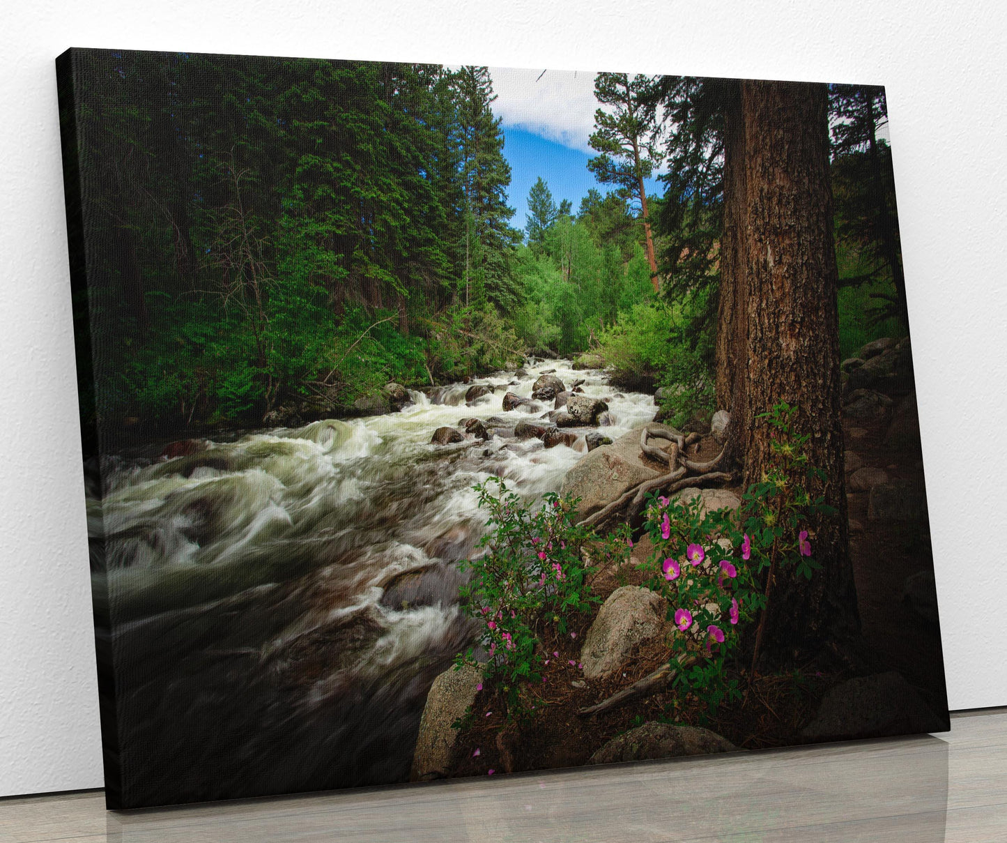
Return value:
<svg viewBox="0 0 1007 843">
<path fill-rule="evenodd" d="M 560 494 L 580 499 L 578 521 L 596 513 L 632 486 L 660 476 L 640 458 L 642 429 L 640 425 L 611 445 L 595 448 L 567 471 Z"/>
</svg>

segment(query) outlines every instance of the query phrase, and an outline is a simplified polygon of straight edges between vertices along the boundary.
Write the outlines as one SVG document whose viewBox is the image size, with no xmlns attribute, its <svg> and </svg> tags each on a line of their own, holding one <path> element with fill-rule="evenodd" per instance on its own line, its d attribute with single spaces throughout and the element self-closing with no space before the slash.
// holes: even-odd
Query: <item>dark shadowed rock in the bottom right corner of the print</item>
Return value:
<svg viewBox="0 0 1007 843">
<path fill-rule="evenodd" d="M 810 740 L 851 740 L 942 732 L 949 725 L 946 714 L 934 714 L 900 673 L 890 671 L 837 685 L 802 735 Z"/>
</svg>

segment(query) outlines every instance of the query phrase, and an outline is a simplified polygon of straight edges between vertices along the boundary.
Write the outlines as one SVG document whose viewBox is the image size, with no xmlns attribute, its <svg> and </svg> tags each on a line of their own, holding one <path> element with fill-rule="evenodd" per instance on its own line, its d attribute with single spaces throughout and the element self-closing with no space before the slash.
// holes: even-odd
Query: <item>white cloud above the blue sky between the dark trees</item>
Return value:
<svg viewBox="0 0 1007 843">
<path fill-rule="evenodd" d="M 593 150 L 587 139 L 594 131 L 594 77 L 589 71 L 530 71 L 490 67 L 496 102 L 493 114 L 505 128 L 527 129 L 536 135 L 582 152 Z"/>
</svg>

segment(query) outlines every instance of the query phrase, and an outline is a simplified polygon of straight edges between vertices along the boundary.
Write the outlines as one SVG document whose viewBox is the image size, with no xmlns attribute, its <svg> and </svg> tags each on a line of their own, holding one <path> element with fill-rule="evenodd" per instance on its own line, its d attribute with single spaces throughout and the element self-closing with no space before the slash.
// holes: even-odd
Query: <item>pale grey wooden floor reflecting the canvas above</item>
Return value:
<svg viewBox="0 0 1007 843">
<path fill-rule="evenodd" d="M 1007 711 L 952 731 L 536 775 L 106 812 L 0 800 L 9 843 L 1007 841 Z"/>
</svg>

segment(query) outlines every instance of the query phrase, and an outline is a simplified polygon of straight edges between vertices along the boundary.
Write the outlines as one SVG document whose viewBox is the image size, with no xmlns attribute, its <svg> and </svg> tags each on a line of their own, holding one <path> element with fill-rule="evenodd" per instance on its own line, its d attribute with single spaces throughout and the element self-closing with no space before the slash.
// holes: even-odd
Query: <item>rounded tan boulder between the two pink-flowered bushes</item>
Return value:
<svg viewBox="0 0 1007 843">
<path fill-rule="evenodd" d="M 661 635 L 666 608 L 662 596 L 638 585 L 609 594 L 580 651 L 584 679 L 607 679 L 620 671 L 634 645 Z"/>
</svg>

